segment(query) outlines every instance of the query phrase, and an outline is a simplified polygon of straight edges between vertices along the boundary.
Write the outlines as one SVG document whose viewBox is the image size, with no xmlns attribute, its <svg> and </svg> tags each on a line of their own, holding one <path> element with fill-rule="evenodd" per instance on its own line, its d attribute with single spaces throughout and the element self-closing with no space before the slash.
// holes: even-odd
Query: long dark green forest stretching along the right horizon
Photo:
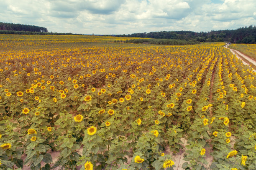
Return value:
<svg viewBox="0 0 256 170">
<path fill-rule="evenodd" d="M 256 26 L 242 27 L 236 30 L 211 30 L 210 32 L 193 31 L 160 31 L 133 33 L 129 35 L 115 35 L 118 37 L 141 37 L 173 40 L 190 40 L 198 42 L 232 42 L 232 43 L 256 43 Z"/>
</svg>

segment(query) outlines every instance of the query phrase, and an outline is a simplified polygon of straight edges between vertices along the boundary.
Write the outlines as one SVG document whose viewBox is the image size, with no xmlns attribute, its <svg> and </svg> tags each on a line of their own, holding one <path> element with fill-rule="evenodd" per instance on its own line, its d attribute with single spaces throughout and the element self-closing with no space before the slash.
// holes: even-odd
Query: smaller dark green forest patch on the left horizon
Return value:
<svg viewBox="0 0 256 170">
<path fill-rule="evenodd" d="M 0 22 L 0 30 L 8 31 L 29 31 L 29 32 L 48 32 L 45 27 L 38 27 L 35 25 L 13 24 Z"/>
</svg>

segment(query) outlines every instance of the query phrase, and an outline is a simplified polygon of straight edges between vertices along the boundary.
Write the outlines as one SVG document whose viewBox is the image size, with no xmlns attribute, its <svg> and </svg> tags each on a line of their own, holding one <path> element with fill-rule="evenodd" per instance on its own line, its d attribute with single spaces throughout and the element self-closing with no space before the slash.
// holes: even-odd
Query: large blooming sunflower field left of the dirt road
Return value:
<svg viewBox="0 0 256 170">
<path fill-rule="evenodd" d="M 0 35 L 1 170 L 256 169 L 251 67 L 115 38 Z"/>
</svg>

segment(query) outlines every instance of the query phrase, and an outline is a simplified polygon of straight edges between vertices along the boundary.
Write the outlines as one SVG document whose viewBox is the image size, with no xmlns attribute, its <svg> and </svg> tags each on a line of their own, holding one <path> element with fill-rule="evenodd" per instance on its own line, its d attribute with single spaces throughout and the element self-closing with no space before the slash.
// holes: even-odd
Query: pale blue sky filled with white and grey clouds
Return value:
<svg viewBox="0 0 256 170">
<path fill-rule="evenodd" d="M 256 25 L 256 0 L 0 0 L 0 22 L 82 34 L 236 29 Z"/>
</svg>

